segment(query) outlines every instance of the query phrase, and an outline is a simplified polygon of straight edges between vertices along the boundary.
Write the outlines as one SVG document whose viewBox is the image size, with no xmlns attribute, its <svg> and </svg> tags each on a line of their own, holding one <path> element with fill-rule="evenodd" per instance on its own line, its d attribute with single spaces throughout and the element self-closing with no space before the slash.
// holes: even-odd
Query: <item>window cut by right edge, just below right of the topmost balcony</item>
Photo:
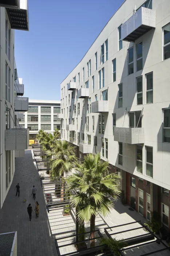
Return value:
<svg viewBox="0 0 170 256">
<path fill-rule="evenodd" d="M 163 27 L 163 60 L 170 58 L 170 23 Z"/>
</svg>

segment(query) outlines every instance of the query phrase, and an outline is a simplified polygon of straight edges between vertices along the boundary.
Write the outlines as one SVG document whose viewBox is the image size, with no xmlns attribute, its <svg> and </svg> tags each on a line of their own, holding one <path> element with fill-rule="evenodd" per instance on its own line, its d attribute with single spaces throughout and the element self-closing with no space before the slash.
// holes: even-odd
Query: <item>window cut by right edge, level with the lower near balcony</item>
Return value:
<svg viewBox="0 0 170 256">
<path fill-rule="evenodd" d="M 163 110 L 163 142 L 170 143 L 170 109 Z"/>
</svg>

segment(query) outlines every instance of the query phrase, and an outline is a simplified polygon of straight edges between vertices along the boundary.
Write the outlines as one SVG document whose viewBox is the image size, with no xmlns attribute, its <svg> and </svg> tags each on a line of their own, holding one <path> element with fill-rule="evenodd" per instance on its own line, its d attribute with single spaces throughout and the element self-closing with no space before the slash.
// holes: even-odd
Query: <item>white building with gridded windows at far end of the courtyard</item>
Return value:
<svg viewBox="0 0 170 256">
<path fill-rule="evenodd" d="M 22 128 L 29 128 L 29 144 L 34 143 L 36 134 L 40 129 L 53 133 L 57 128 L 60 130 L 60 101 L 29 99 L 28 112 L 19 118 Z"/>
</svg>

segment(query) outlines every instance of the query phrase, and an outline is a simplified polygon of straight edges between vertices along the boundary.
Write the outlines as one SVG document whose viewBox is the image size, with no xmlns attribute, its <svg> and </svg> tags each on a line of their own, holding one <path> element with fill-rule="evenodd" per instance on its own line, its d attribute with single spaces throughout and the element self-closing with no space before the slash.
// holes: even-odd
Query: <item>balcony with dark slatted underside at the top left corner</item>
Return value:
<svg viewBox="0 0 170 256">
<path fill-rule="evenodd" d="M 0 0 L 1 1 L 1 0 Z M 9 2 L 10 0 L 4 0 Z M 13 0 L 15 2 L 16 0 Z M 11 0 L 12 2 L 12 0 Z M 18 9 L 7 8 L 11 29 L 29 30 L 28 0 L 20 0 Z"/>
</svg>

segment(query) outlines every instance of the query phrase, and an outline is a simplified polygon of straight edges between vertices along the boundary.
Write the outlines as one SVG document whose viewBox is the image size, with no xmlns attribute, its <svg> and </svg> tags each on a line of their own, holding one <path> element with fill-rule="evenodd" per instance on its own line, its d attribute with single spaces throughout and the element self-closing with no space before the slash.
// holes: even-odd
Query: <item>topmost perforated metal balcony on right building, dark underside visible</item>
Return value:
<svg viewBox="0 0 170 256">
<path fill-rule="evenodd" d="M 141 7 L 121 26 L 121 39 L 135 42 L 136 39 L 146 34 L 156 26 L 155 10 Z"/>
</svg>

